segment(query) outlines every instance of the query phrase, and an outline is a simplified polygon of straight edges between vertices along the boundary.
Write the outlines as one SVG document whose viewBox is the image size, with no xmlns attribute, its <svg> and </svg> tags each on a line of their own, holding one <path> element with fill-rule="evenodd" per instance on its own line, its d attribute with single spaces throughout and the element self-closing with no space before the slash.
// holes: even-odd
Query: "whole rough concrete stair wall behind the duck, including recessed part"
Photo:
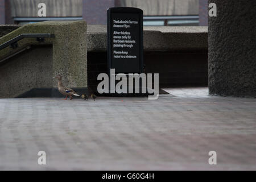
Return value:
<svg viewBox="0 0 256 182">
<path fill-rule="evenodd" d="M 73 34 L 75 32 L 75 34 Z M 87 87 L 87 50 L 86 50 L 86 22 L 84 21 L 49 21 L 27 24 L 0 38 L 0 44 L 15 38 L 20 34 L 54 34 L 55 38 L 45 38 L 38 42 L 35 38 L 25 38 L 18 42 L 16 49 L 6 47 L 0 50 L 0 59 L 19 52 L 28 46 L 52 46 L 51 56 L 45 49 L 36 49 L 34 52 L 7 59 L 2 65 L 0 82 L 1 98 L 17 97 L 32 88 L 56 88 L 57 82 L 52 77 L 60 74 L 63 83 L 70 88 Z M 32 49 L 28 49 L 30 51 Z M 35 53 L 36 52 L 36 53 Z M 42 54 L 43 53 L 43 54 Z M 39 57 L 40 55 L 40 57 Z M 23 57 L 23 58 L 22 58 Z M 27 57 L 27 59 L 25 58 Z M 31 59 L 30 59 L 31 57 Z M 21 62 L 31 64 L 18 64 Z M 42 63 L 41 63 L 42 62 Z M 17 65 L 15 65 L 17 63 Z M 45 64 L 47 63 L 47 64 Z M 36 69 L 36 65 L 40 69 Z M 19 66 L 18 66 L 19 65 Z M 35 70 L 31 71 L 31 68 Z M 18 73 L 15 73 L 17 72 Z M 23 76 L 22 76 L 23 75 Z M 35 77 L 41 81 L 35 81 Z M 16 85 L 15 85 L 16 84 Z M 17 89 L 19 88 L 19 89 Z M 2 91 L 4 90 L 4 92 Z M 13 90 L 13 91 L 12 91 Z"/>
</svg>

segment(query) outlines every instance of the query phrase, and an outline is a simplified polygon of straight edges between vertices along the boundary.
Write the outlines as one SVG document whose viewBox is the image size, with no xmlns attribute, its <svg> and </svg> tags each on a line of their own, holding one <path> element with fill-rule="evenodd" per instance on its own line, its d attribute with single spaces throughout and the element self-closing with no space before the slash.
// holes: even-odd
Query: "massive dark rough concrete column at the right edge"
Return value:
<svg viewBox="0 0 256 182">
<path fill-rule="evenodd" d="M 209 94 L 256 96 L 255 0 L 209 0 Z"/>
</svg>

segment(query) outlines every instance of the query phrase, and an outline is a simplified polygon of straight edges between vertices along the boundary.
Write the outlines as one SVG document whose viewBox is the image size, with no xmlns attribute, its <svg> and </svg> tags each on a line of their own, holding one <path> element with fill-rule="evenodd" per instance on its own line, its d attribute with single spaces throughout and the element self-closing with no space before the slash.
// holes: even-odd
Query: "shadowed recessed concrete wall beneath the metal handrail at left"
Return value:
<svg viewBox="0 0 256 182">
<path fill-rule="evenodd" d="M 52 87 L 52 46 L 34 47 L 0 66 L 0 98 Z M 55 86 L 56 87 L 56 86 Z"/>
</svg>

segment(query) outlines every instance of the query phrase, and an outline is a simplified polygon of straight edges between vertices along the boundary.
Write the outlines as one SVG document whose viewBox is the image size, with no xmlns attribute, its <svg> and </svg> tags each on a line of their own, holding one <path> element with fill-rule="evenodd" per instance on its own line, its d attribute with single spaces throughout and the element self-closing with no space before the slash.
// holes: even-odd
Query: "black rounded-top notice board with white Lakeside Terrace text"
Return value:
<svg viewBox="0 0 256 182">
<path fill-rule="evenodd" d="M 115 73 L 143 71 L 143 11 L 134 7 L 108 9 L 108 67 Z"/>
</svg>

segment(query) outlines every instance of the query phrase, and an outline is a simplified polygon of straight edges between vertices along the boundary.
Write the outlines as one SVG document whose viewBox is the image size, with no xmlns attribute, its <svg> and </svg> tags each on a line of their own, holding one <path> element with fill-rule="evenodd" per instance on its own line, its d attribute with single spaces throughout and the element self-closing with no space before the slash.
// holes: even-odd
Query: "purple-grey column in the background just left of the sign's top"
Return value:
<svg viewBox="0 0 256 182">
<path fill-rule="evenodd" d="M 117 0 L 82 0 L 82 17 L 88 24 L 106 24 L 106 10 Z"/>
</svg>

